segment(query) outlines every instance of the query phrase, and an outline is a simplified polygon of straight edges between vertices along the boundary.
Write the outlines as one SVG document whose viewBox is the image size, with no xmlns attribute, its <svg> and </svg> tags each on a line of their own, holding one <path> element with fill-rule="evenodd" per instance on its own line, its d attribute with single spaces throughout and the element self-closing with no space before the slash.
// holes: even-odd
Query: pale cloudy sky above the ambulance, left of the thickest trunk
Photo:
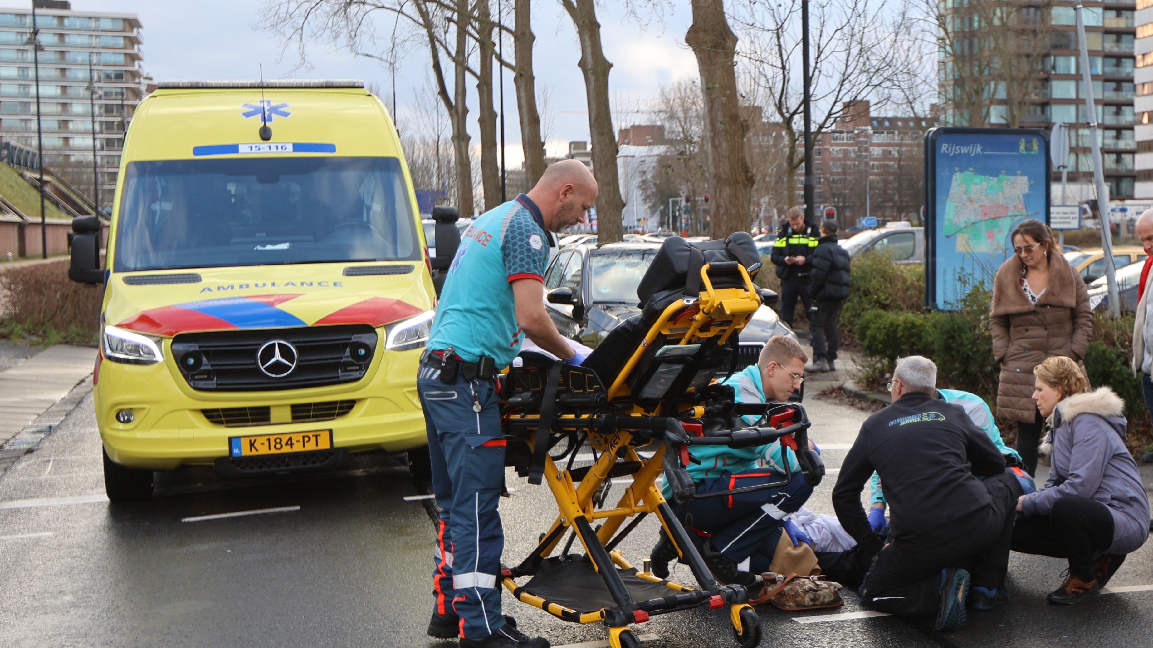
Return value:
<svg viewBox="0 0 1153 648">
<path fill-rule="evenodd" d="M 294 48 L 282 52 L 282 43 L 258 29 L 261 8 L 269 0 L 73 0 L 73 9 L 84 12 L 135 13 L 143 24 L 144 68 L 157 81 L 256 78 L 264 63 L 266 78 L 360 78 L 375 84 L 386 104 L 391 99 L 391 73 L 386 65 L 355 56 L 344 48 L 317 43 L 309 48 L 311 69 L 293 70 L 299 63 Z M 24 5 L 10 0 L 0 3 Z M 605 56 L 612 62 L 611 91 L 618 105 L 648 106 L 662 85 L 696 76 L 696 59 L 684 44 L 692 22 L 687 0 L 676 0 L 663 20 L 640 27 L 623 12 L 619 1 L 604 2 L 598 16 Z M 27 6 L 27 5 L 25 5 Z M 538 88 L 550 91 L 552 115 L 550 153 L 571 140 L 588 140 L 585 112 L 585 83 L 576 62 L 580 46 L 572 22 L 557 0 L 537 0 L 533 31 L 536 35 L 534 62 Z M 378 30 L 391 33 L 392 22 L 383 13 Z M 375 53 L 384 54 L 386 40 Z M 416 47 L 401 60 L 397 70 L 397 113 L 401 121 L 416 93 L 430 76 L 427 48 Z M 512 56 L 512 44 L 505 53 Z M 475 100 L 475 83 L 469 82 Z M 512 77 L 505 75 L 505 129 L 508 166 L 520 165 L 520 131 Z M 470 116 L 475 119 L 475 108 Z M 643 122 L 645 114 L 626 118 Z M 618 123 L 617 128 L 627 126 Z M 478 144 L 475 123 L 470 131 Z"/>
</svg>

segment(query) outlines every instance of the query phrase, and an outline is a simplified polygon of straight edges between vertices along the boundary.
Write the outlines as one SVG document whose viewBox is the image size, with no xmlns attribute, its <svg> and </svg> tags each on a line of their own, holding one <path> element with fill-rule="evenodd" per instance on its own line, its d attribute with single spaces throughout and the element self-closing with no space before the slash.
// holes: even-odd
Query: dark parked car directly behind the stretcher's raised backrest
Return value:
<svg viewBox="0 0 1153 648">
<path fill-rule="evenodd" d="M 605 243 L 560 250 L 544 272 L 545 306 L 562 336 L 595 347 L 625 319 L 641 311 L 636 286 L 661 246 Z M 774 293 L 768 300 L 776 301 Z M 756 362 L 773 336 L 797 334 L 762 304 L 740 333 L 737 369 Z"/>
</svg>

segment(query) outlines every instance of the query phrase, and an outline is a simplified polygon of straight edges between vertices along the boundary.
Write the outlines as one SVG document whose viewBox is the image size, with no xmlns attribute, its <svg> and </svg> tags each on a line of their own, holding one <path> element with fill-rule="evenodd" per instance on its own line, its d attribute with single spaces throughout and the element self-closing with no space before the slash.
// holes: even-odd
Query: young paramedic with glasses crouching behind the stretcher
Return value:
<svg viewBox="0 0 1153 648">
<path fill-rule="evenodd" d="M 784 402 L 805 379 L 806 362 L 808 357 L 797 340 L 775 336 L 764 344 L 758 363 L 731 377 L 726 384 L 737 390 L 737 402 Z M 698 493 L 761 485 L 778 482 L 784 476 L 779 442 L 747 449 L 689 446 L 689 455 L 700 461 L 691 461 L 685 468 Z M 693 499 L 684 505 L 670 502 L 717 580 L 753 587 L 758 574 L 768 571 L 786 518 L 813 493 L 813 487 L 800 474 L 791 452 L 789 462 L 792 481 L 779 488 Z M 668 482 L 662 488 L 665 498 L 671 500 Z M 787 526 L 792 532 L 790 537 L 798 542 L 799 532 Z M 677 556 L 662 529 L 650 557 L 653 573 L 666 578 L 669 562 Z"/>
</svg>

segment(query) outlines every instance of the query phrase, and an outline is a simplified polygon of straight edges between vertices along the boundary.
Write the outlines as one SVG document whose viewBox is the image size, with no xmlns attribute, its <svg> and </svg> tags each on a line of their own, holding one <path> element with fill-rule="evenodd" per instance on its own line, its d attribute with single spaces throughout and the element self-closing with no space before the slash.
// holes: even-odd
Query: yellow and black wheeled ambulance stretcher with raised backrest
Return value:
<svg viewBox="0 0 1153 648">
<path fill-rule="evenodd" d="M 718 265 L 723 265 L 723 270 L 730 273 L 738 271 L 740 286 L 714 287 L 710 270 Z M 698 389 L 678 394 L 676 399 L 665 398 L 654 406 L 653 402 L 639 402 L 645 399 L 634 398 L 631 393 L 627 385 L 630 376 L 662 336 L 664 346 L 699 345 L 711 339 L 717 347 L 723 347 L 730 337 L 739 333 L 761 306 L 760 291 L 746 268 L 737 262 L 703 264 L 700 268 L 700 279 L 702 289 L 699 296 L 677 299 L 663 309 L 608 389 L 600 384 L 595 371 L 560 362 L 553 362 L 547 372 L 543 367 L 530 368 L 528 364 L 512 368 L 503 377 L 502 421 L 508 435 L 506 438 L 512 439 L 510 450 L 521 442 L 522 447 L 527 446 L 528 452 L 534 454 L 538 465 L 533 466 L 535 470 L 529 470 L 529 482 L 548 483 L 557 502 L 558 515 L 548 532 L 542 534 L 537 548 L 520 565 L 502 568 L 502 583 L 521 602 L 563 620 L 605 624 L 612 648 L 640 646 L 636 635 L 628 630 L 628 624 L 645 623 L 655 615 L 702 605 L 710 609 L 729 605 L 737 642 L 744 647 L 760 643 L 760 621 L 748 604 L 749 593 L 739 585 L 722 586 L 716 582 L 684 526 L 662 496 L 656 479 L 665 473 L 675 498 L 689 499 L 695 493 L 684 466 L 689 461 L 687 451 L 691 445 L 748 447 L 781 438 L 783 446 L 794 451 L 797 447 L 807 449 L 809 423 L 804 408 L 797 404 L 733 404 L 731 391 L 728 399 L 722 397 L 718 402 L 715 393 L 706 394 L 704 390 Z M 558 391 L 562 393 L 558 394 Z M 552 406 L 552 402 L 556 405 Z M 703 423 L 709 416 L 729 415 L 730 420 L 734 420 L 741 414 L 761 415 L 763 422 L 768 419 L 766 415 L 770 408 L 787 409 L 794 414 L 793 421 L 778 414 L 773 417 L 778 423 L 777 427 L 746 427 L 741 421 L 739 428 L 703 431 Z M 582 435 L 581 440 L 573 443 L 578 431 Z M 596 458 L 590 467 L 574 469 L 573 458 L 586 435 L 598 454 L 595 453 Z M 570 439 L 570 447 L 557 460 L 563 459 L 564 454 L 571 453 L 571 457 L 567 467 L 562 468 L 542 444 L 551 446 L 565 436 Z M 661 445 L 651 457 L 645 458 L 636 452 L 638 447 L 656 442 L 661 442 Z M 819 482 L 823 475 L 823 466 L 814 465 L 812 458 L 804 452 L 798 453 L 798 460 L 806 479 L 811 483 L 814 480 Z M 789 483 L 792 474 L 789 473 L 787 457 L 783 462 L 786 475 L 781 482 L 718 491 L 708 496 L 728 496 Z M 602 490 L 605 483 L 613 476 L 626 474 L 633 475 L 632 484 L 627 485 L 615 506 L 601 507 L 608 495 L 606 490 Z M 643 570 L 634 571 L 620 551 L 616 550 L 620 541 L 648 515 L 657 517 L 676 547 L 680 562 L 692 571 L 695 586 L 654 575 L 648 568 L 648 560 L 645 560 Z M 625 526 L 625 521 L 630 519 Z M 594 528 L 595 522 L 601 526 Z M 533 594 L 517 583 L 515 579 L 535 574 L 542 563 L 550 559 L 548 557 L 568 530 L 572 530 L 572 537 L 563 550 L 562 558 L 552 559 L 564 559 L 573 537 L 578 540 L 587 558 L 603 578 L 616 605 L 580 612 Z M 663 598 L 633 601 L 621 579 L 623 573 L 663 586 L 669 594 Z"/>
</svg>

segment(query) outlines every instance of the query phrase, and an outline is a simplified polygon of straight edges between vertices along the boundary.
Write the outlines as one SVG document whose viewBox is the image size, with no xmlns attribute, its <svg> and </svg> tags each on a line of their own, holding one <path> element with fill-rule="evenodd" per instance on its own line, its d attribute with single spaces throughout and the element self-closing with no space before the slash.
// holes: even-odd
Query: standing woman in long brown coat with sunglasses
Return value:
<svg viewBox="0 0 1153 648">
<path fill-rule="evenodd" d="M 1012 232 L 1013 256 L 993 282 L 993 357 L 1001 366 L 997 415 L 1017 421 L 1017 451 L 1030 475 L 1045 420 L 1033 402 L 1033 368 L 1053 355 L 1085 357 L 1093 333 L 1085 281 L 1035 219 Z M 1084 367 L 1082 368 L 1084 371 Z"/>
</svg>

